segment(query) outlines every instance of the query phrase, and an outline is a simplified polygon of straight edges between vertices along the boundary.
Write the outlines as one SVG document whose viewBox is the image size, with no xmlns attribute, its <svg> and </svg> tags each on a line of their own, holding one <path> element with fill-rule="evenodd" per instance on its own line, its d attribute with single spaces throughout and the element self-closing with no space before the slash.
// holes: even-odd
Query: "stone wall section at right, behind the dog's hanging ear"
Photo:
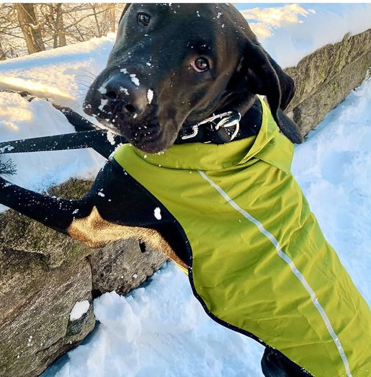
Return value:
<svg viewBox="0 0 371 377">
<path fill-rule="evenodd" d="M 286 113 L 306 135 L 359 86 L 371 67 L 371 29 L 326 45 L 285 69 L 296 83 Z"/>
</svg>

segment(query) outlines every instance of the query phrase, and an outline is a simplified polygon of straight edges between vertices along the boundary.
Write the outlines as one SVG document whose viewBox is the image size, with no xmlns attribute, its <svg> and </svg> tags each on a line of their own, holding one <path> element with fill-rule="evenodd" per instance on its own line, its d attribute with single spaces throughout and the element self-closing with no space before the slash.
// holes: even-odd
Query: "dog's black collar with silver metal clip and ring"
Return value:
<svg viewBox="0 0 371 377">
<path fill-rule="evenodd" d="M 214 119 L 211 116 L 196 125 L 182 128 L 175 144 L 196 142 L 226 144 L 257 135 L 262 123 L 262 111 L 262 105 L 257 99 L 239 122 L 237 111 L 220 114 L 221 116 L 215 116 Z"/>
</svg>

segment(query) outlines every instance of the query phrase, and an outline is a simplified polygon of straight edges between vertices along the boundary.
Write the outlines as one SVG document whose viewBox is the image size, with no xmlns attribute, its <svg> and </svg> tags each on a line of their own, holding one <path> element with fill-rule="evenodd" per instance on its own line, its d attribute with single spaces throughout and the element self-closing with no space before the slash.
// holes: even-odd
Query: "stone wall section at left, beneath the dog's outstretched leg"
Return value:
<svg viewBox="0 0 371 377">
<path fill-rule="evenodd" d="M 79 198 L 90 185 L 71 179 L 49 194 Z M 94 329 L 91 305 L 70 321 L 76 302 L 125 294 L 165 260 L 137 240 L 91 250 L 15 211 L 0 214 L 0 376 L 40 374 Z"/>
</svg>

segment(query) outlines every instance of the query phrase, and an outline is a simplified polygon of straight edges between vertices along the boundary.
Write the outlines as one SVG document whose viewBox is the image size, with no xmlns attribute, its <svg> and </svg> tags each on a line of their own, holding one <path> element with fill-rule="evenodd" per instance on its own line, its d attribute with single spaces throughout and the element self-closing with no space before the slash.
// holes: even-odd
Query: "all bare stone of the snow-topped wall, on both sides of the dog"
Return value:
<svg viewBox="0 0 371 377">
<path fill-rule="evenodd" d="M 286 71 L 297 91 L 288 114 L 303 135 L 365 78 L 371 30 L 327 45 Z M 71 179 L 49 194 L 79 198 L 91 182 Z M 78 301 L 115 290 L 125 294 L 162 266 L 165 257 L 137 240 L 91 250 L 14 211 L 0 214 L 0 375 L 40 374 L 94 328 L 92 307 L 78 320 Z"/>
</svg>

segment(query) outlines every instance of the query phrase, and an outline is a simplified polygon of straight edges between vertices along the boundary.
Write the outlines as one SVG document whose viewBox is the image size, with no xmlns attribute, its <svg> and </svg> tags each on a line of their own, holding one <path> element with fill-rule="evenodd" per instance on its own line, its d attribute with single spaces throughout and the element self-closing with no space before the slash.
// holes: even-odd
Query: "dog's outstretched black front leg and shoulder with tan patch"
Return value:
<svg viewBox="0 0 371 377">
<path fill-rule="evenodd" d="M 187 268 L 156 229 L 173 219 L 161 203 L 153 202 L 149 193 L 133 178 L 108 162 L 98 173 L 90 191 L 81 199 L 67 200 L 39 194 L 0 177 L 0 204 L 85 243 L 103 247 L 118 240 L 136 238 L 149 242 L 168 258 Z M 162 219 L 153 209 L 162 207 Z"/>
</svg>

